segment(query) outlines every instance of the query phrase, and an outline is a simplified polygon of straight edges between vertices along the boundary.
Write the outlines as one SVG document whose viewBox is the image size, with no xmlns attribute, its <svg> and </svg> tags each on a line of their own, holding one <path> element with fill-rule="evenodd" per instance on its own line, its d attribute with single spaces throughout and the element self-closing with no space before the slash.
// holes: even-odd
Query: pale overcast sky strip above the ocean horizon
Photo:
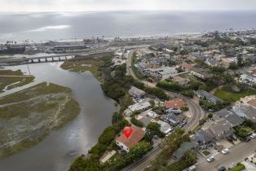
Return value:
<svg viewBox="0 0 256 171">
<path fill-rule="evenodd" d="M 256 10 L 256 0 L 0 0 L 0 11 Z"/>
</svg>

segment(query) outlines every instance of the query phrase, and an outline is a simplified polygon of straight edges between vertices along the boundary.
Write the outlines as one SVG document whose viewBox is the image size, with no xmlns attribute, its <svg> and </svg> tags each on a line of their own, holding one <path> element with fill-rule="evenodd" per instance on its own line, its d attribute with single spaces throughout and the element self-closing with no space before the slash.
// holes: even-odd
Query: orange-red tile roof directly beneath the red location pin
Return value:
<svg viewBox="0 0 256 171">
<path fill-rule="evenodd" d="M 139 127 L 132 126 L 131 128 L 133 129 L 133 132 L 130 135 L 130 138 L 126 138 L 124 134 L 121 134 L 121 136 L 116 138 L 117 142 L 124 143 L 128 148 L 135 146 L 144 137 L 145 134 L 143 129 Z"/>
</svg>

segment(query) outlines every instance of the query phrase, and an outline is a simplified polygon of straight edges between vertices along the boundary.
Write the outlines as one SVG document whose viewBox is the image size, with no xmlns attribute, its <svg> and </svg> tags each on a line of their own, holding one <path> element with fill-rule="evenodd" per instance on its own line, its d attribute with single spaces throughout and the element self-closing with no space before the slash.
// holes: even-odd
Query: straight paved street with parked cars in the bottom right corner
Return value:
<svg viewBox="0 0 256 171">
<path fill-rule="evenodd" d="M 218 153 L 214 156 L 215 160 L 211 163 L 206 162 L 206 160 L 201 160 L 201 163 L 196 164 L 196 170 L 216 171 L 220 166 L 228 168 L 232 163 L 245 160 L 245 157 L 254 154 L 256 151 L 256 139 L 252 139 L 250 142 L 241 142 L 230 148 L 229 151 L 227 155 Z"/>
</svg>

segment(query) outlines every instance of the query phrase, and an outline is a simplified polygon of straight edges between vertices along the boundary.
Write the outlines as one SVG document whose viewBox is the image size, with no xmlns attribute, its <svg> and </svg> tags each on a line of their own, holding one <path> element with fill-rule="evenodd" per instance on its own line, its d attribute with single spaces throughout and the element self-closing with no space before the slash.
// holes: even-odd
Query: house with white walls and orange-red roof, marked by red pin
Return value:
<svg viewBox="0 0 256 171">
<path fill-rule="evenodd" d="M 133 132 L 130 138 L 126 138 L 124 134 L 121 134 L 116 138 L 117 146 L 121 148 L 122 151 L 129 152 L 130 147 L 134 147 L 143 137 L 145 132 L 139 127 L 132 126 Z"/>
</svg>

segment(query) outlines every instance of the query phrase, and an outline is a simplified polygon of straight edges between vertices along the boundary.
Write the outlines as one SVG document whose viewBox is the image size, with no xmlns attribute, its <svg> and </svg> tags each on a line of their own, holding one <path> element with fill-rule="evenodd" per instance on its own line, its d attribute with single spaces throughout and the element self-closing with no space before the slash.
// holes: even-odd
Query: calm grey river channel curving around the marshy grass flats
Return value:
<svg viewBox="0 0 256 171">
<path fill-rule="evenodd" d="M 59 65 L 29 65 L 30 72 L 36 77 L 33 84 L 51 81 L 70 87 L 82 108 L 81 113 L 34 147 L 0 160 L 1 171 L 67 170 L 77 156 L 86 154 L 97 142 L 104 128 L 111 125 L 114 102 L 104 95 L 95 77 L 90 73 L 64 71 Z M 28 72 L 27 66 L 11 67 L 18 68 Z"/>
</svg>

